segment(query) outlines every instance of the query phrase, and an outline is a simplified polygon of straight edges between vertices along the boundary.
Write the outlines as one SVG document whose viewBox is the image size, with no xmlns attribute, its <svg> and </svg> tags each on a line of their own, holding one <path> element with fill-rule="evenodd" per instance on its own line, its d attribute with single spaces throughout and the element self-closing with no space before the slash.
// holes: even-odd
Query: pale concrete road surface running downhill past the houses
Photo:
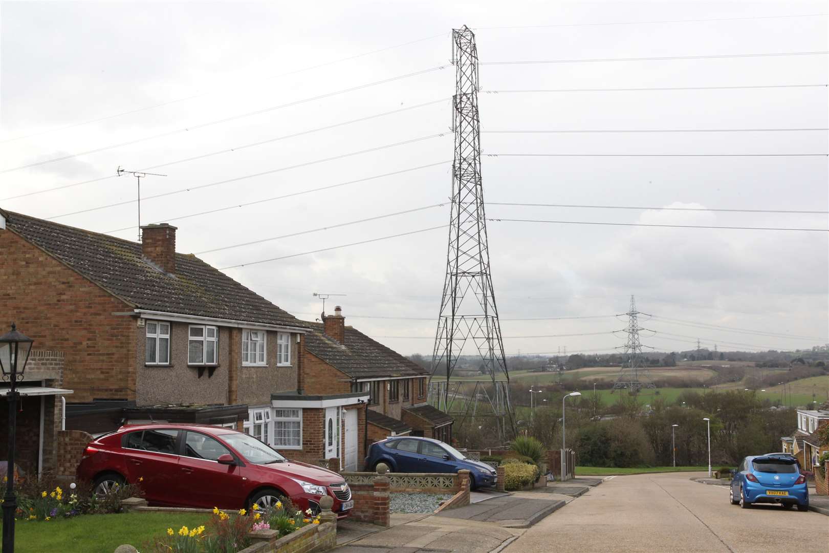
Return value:
<svg viewBox="0 0 829 553">
<path fill-rule="evenodd" d="M 829 517 L 776 505 L 730 505 L 705 473 L 617 476 L 532 526 L 506 553 L 566 551 L 829 552 Z"/>
</svg>

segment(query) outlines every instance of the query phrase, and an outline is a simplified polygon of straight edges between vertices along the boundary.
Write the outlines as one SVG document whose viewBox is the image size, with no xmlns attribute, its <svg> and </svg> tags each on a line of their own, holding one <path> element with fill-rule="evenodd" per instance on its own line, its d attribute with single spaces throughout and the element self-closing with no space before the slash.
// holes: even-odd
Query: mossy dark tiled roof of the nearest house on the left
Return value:
<svg viewBox="0 0 829 553">
<path fill-rule="evenodd" d="M 7 229 L 45 250 L 134 308 L 246 323 L 304 326 L 195 255 L 176 254 L 176 274 L 162 273 L 138 242 L 3 211 Z"/>
</svg>

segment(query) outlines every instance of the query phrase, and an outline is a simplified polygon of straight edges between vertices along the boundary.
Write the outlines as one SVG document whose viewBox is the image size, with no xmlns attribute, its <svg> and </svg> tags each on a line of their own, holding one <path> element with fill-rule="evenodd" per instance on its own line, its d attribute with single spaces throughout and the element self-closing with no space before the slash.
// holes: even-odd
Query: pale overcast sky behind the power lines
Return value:
<svg viewBox="0 0 829 553">
<path fill-rule="evenodd" d="M 0 207 L 135 240 L 136 182 L 115 177 L 117 167 L 167 175 L 143 180 L 142 196 L 223 182 L 145 199 L 141 221 L 170 221 L 177 250 L 218 268 L 247 264 L 225 272 L 300 318 L 322 310 L 313 292 L 347 294 L 329 300 L 329 313 L 342 304 L 347 324 L 405 354 L 433 347 L 446 229 L 250 263 L 448 223 L 453 27 L 475 29 L 482 62 L 829 50 L 827 17 L 814 15 L 827 12 L 820 1 L 61 1 L 0 9 Z M 487 154 L 827 153 L 826 86 L 526 92 L 826 85 L 827 67 L 822 54 L 482 65 L 487 216 L 826 229 L 825 214 L 493 205 L 827 211 L 825 156 Z M 342 125 L 325 129 L 334 124 Z M 824 130 L 492 133 L 645 129 Z M 56 187 L 64 188 L 21 196 Z M 308 192 L 322 187 L 331 188 Z M 297 192 L 308 193 L 271 199 Z M 67 215 L 119 202 L 127 203 Z M 658 333 L 642 342 L 662 351 L 691 349 L 697 337 L 720 350 L 829 342 L 827 232 L 508 221 L 489 222 L 488 232 L 508 354 L 608 352 L 623 343 L 610 331 L 625 323 L 609 316 L 627 310 L 630 294 L 656 317 L 642 324 Z M 528 318 L 565 319 L 515 320 Z M 537 337 L 562 334 L 589 335 Z"/>
</svg>

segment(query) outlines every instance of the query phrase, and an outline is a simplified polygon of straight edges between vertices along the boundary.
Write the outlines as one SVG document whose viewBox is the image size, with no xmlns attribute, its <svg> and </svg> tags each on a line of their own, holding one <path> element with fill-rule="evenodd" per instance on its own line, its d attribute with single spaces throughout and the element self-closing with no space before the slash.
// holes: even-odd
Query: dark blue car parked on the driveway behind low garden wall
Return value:
<svg viewBox="0 0 829 553">
<path fill-rule="evenodd" d="M 366 468 L 375 470 L 385 463 L 392 473 L 457 473 L 469 471 L 470 488 L 486 488 L 497 483 L 495 469 L 487 463 L 465 458 L 451 445 L 437 439 L 402 436 L 371 444 Z"/>
</svg>

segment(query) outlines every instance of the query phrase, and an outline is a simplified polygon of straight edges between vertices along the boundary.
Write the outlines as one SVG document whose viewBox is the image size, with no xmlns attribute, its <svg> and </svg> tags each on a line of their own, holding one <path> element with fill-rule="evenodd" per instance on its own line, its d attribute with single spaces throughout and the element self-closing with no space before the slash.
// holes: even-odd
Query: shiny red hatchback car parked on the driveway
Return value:
<svg viewBox="0 0 829 553">
<path fill-rule="evenodd" d="M 140 481 L 154 505 L 264 509 L 288 498 L 316 513 L 327 495 L 338 517 L 354 507 L 339 474 L 289 461 L 248 434 L 202 424 L 123 426 L 86 446 L 78 478 L 99 493 Z"/>
</svg>

